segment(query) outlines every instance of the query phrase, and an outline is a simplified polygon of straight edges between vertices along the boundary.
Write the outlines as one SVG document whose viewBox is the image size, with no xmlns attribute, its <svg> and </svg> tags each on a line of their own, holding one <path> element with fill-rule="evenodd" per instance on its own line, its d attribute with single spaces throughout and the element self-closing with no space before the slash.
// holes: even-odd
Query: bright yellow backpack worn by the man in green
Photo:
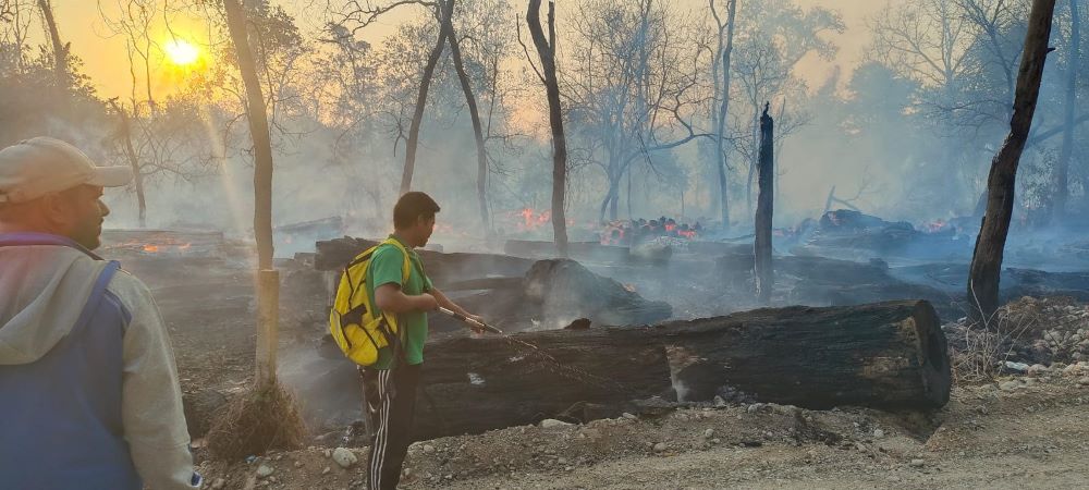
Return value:
<svg viewBox="0 0 1089 490">
<path fill-rule="evenodd" d="M 340 285 L 337 286 L 337 298 L 329 314 L 329 332 L 333 335 L 333 341 L 347 358 L 359 366 L 371 366 L 377 363 L 378 351 L 391 343 L 394 344 L 394 348 L 400 347 L 396 315 L 375 316 L 375 307 L 367 294 L 367 269 L 370 267 L 370 258 L 382 245 L 393 245 L 401 250 L 405 258 L 401 283 L 408 282 L 408 274 L 412 272 L 408 252 L 396 240 L 387 238 L 357 255 L 344 267 Z"/>
</svg>

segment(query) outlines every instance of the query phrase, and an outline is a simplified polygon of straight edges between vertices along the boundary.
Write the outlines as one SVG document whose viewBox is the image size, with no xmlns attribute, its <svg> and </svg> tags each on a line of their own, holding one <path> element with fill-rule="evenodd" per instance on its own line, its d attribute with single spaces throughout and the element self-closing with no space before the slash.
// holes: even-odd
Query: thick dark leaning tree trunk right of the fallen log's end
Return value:
<svg viewBox="0 0 1089 490">
<path fill-rule="evenodd" d="M 1032 127 L 1032 114 L 1040 95 L 1040 78 L 1048 58 L 1048 38 L 1051 36 L 1054 11 L 1055 0 L 1032 1 L 1028 33 L 1025 35 L 1025 51 L 1017 73 L 1010 134 L 991 161 L 991 172 L 987 177 L 987 213 L 971 256 L 968 299 L 972 303 L 970 310 L 974 319 L 988 326 L 991 326 L 990 320 L 999 308 L 999 273 L 1013 215 L 1017 166 Z"/>
</svg>

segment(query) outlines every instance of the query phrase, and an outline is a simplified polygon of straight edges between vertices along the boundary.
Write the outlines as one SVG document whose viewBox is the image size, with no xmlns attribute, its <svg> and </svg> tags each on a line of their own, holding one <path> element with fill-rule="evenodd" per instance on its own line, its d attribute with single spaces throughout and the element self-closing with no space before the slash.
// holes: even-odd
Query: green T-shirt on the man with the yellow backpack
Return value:
<svg viewBox="0 0 1089 490">
<path fill-rule="evenodd" d="M 391 238 L 401 242 L 396 236 Z M 408 296 L 416 296 L 431 291 L 431 280 L 424 273 L 424 265 L 419 261 L 416 250 L 401 242 L 401 245 L 408 250 L 408 259 L 412 262 L 412 271 L 408 273 L 407 283 L 402 283 L 401 273 L 404 267 L 404 255 L 393 245 L 381 245 L 375 250 L 370 258 L 370 267 L 367 268 L 367 295 L 370 304 L 375 305 L 375 310 L 381 314 L 375 303 L 375 290 L 383 284 L 397 284 L 401 291 Z M 424 342 L 427 341 L 427 313 L 409 311 L 397 317 L 397 326 L 404 329 L 404 355 L 405 362 L 416 365 L 424 362 Z M 376 369 L 389 369 L 393 360 L 393 350 L 389 346 L 378 352 L 378 363 Z"/>
</svg>

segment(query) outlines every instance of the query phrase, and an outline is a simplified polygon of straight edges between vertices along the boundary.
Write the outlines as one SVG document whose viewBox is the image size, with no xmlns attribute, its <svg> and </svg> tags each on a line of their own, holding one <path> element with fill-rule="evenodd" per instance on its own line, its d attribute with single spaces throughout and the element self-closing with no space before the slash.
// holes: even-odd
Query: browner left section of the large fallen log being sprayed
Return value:
<svg viewBox="0 0 1089 490">
<path fill-rule="evenodd" d="M 665 350 L 647 342 L 648 330 L 590 328 L 514 335 L 540 346 L 559 364 L 500 336 L 437 339 L 427 346 L 414 439 L 535 424 L 565 412 L 572 415 L 567 409 L 576 405 L 583 414 L 588 411 L 589 418 L 615 417 L 628 401 L 672 397 Z M 565 369 L 583 373 L 559 372 Z"/>
</svg>

